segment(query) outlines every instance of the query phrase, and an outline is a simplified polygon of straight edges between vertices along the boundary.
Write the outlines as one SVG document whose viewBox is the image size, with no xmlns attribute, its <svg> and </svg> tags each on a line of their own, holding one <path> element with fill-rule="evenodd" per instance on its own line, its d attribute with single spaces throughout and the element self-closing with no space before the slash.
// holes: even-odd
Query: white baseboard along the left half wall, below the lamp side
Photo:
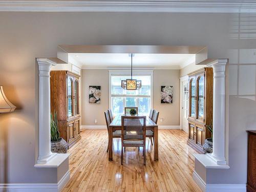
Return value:
<svg viewBox="0 0 256 192">
<path fill-rule="evenodd" d="M 5 192 L 59 192 L 68 183 L 70 172 L 63 175 L 58 183 L 0 183 Z"/>
</svg>

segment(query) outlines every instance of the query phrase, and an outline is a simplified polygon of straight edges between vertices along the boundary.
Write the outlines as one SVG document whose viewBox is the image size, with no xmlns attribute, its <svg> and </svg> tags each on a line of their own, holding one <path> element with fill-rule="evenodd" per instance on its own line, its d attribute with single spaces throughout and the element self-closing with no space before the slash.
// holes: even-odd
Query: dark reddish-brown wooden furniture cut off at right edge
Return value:
<svg viewBox="0 0 256 192">
<path fill-rule="evenodd" d="M 256 131 L 248 133 L 248 153 L 247 153 L 247 192 L 256 192 Z"/>
</svg>

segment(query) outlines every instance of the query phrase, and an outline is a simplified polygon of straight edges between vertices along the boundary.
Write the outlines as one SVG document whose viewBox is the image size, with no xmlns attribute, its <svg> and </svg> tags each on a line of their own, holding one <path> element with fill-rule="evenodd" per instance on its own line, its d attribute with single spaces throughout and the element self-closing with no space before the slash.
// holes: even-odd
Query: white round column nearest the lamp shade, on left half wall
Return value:
<svg viewBox="0 0 256 192">
<path fill-rule="evenodd" d="M 50 132 L 50 70 L 55 62 L 38 58 L 39 66 L 39 155 L 37 163 L 47 163 L 56 153 L 51 152 Z"/>
</svg>

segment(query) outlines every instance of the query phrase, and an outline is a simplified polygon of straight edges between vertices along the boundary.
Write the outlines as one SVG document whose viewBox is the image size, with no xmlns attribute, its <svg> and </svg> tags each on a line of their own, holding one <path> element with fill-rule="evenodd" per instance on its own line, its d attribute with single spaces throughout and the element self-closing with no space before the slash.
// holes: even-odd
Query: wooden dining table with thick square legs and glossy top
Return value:
<svg viewBox="0 0 256 192">
<path fill-rule="evenodd" d="M 113 160 L 113 132 L 121 130 L 121 117 L 117 115 L 109 125 L 109 161 Z M 146 130 L 154 132 L 154 160 L 158 160 L 158 125 L 148 116 L 146 117 Z"/>
</svg>

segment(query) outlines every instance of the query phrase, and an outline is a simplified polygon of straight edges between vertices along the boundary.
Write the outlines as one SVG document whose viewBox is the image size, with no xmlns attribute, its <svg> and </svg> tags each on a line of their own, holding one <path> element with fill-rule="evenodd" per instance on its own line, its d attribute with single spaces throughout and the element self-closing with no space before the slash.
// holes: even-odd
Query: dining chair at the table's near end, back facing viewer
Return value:
<svg viewBox="0 0 256 192">
<path fill-rule="evenodd" d="M 123 147 L 143 147 L 145 165 L 146 116 L 122 116 L 121 127 L 121 164 L 123 164 Z"/>
</svg>

